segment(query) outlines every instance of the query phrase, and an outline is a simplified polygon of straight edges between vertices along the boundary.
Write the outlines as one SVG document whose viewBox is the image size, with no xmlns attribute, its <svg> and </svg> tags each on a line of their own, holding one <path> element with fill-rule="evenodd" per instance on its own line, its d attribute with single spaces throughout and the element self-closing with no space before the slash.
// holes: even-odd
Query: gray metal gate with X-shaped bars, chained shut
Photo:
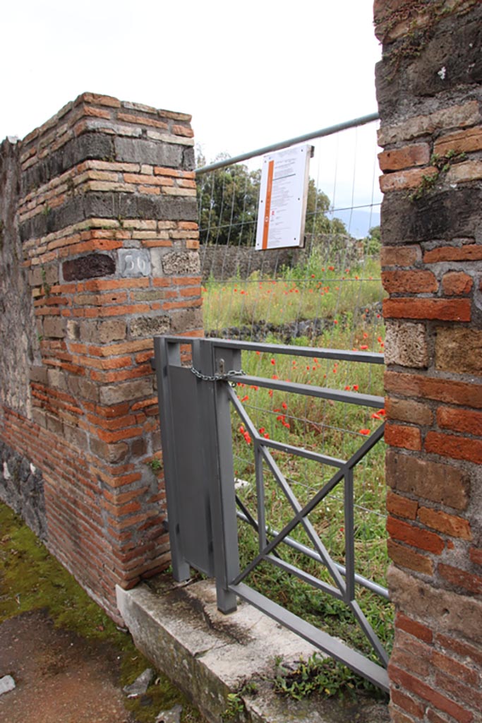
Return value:
<svg viewBox="0 0 482 723">
<path fill-rule="evenodd" d="M 233 612 L 236 609 L 236 596 L 239 596 L 313 643 L 320 651 L 343 662 L 379 688 L 388 690 L 387 652 L 356 602 L 355 589 L 356 585 L 361 585 L 384 597 L 387 597 L 387 591 L 374 581 L 356 574 L 353 529 L 353 470 L 376 442 L 382 439 L 383 423 L 364 438 L 348 459 L 339 459 L 262 435 L 233 388 L 233 385 L 242 382 L 254 388 L 282 390 L 306 398 L 327 400 L 331 404 L 343 402 L 347 405 L 379 408 L 383 406 L 384 400 L 375 395 L 300 384 L 276 377 L 246 376 L 241 371 L 241 351 L 369 364 L 383 364 L 382 354 L 222 339 L 163 336 L 155 337 L 154 341 L 174 578 L 178 581 L 189 578 L 190 567 L 214 577 L 220 611 Z M 257 488 L 255 515 L 251 515 L 236 497 L 231 408 L 236 411 L 247 430 L 246 434 L 252 440 Z M 328 465 L 335 471 L 311 499 L 300 502 L 277 465 L 274 458 L 276 450 Z M 270 471 L 291 505 L 291 519 L 280 530 L 266 523 L 264 467 Z M 339 485 L 344 492 L 344 565 L 332 559 L 308 516 Z M 236 516 L 250 524 L 258 538 L 259 552 L 242 570 Z M 309 546 L 293 539 L 293 531 L 298 526 L 308 537 Z M 283 560 L 279 554 L 283 545 L 294 547 L 319 562 L 330 573 L 330 583 Z M 378 662 L 319 630 L 247 585 L 247 576 L 261 562 L 275 565 L 287 575 L 295 576 L 342 601 L 371 643 Z"/>
</svg>

